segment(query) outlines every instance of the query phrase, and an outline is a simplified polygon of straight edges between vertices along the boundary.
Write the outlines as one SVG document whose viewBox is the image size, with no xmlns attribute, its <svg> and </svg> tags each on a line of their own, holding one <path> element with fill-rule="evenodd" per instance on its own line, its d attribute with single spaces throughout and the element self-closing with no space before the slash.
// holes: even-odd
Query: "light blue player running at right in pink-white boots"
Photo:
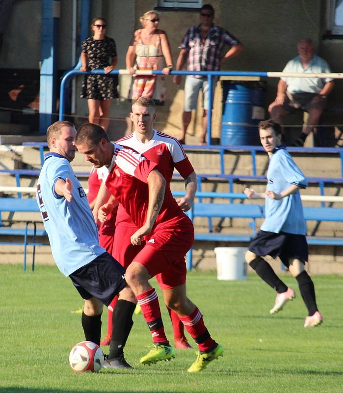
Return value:
<svg viewBox="0 0 343 393">
<path fill-rule="evenodd" d="M 267 188 L 264 193 L 247 188 L 250 199 L 265 199 L 265 221 L 245 254 L 247 263 L 268 285 L 277 291 L 271 314 L 280 311 L 295 298 L 295 292 L 275 274 L 264 256 L 280 257 L 298 281 L 299 290 L 308 309 L 304 327 L 319 325 L 323 318 L 317 309 L 315 286 L 305 271 L 308 260 L 306 223 L 299 189 L 307 180 L 297 167 L 285 146 L 281 144 L 281 126 L 273 120 L 259 123 L 260 140 L 269 155 Z"/>
</svg>

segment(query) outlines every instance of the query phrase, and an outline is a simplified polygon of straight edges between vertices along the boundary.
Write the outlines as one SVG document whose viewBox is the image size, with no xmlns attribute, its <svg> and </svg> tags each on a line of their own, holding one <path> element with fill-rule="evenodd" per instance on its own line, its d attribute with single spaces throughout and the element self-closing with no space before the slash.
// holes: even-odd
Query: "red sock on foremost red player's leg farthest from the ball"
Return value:
<svg viewBox="0 0 343 393">
<path fill-rule="evenodd" d="M 180 317 L 180 320 L 185 325 L 187 332 L 194 338 L 198 344 L 199 351 L 209 351 L 214 345 L 214 340 L 211 338 L 209 331 L 206 329 L 203 320 L 203 314 L 197 307 L 189 315 Z"/>
</svg>

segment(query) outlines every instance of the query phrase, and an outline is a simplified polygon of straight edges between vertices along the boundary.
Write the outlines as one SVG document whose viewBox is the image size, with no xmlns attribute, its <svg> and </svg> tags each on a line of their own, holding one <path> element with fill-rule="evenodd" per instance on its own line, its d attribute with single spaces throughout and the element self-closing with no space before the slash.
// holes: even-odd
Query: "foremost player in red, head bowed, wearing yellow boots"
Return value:
<svg viewBox="0 0 343 393">
<path fill-rule="evenodd" d="M 138 126 L 150 128 L 154 113 L 152 107 L 139 107 L 139 113 L 134 114 Z M 121 203 L 138 227 L 131 236 L 132 244 L 144 242 L 126 271 L 126 281 L 142 308 L 154 342 L 153 349 L 140 362 L 152 364 L 175 357 L 165 336 L 156 291 L 149 284 L 150 278 L 159 275 L 159 282 L 168 288 L 162 289 L 166 306 L 178 314 L 199 347 L 197 359 L 188 371 L 201 371 L 223 355 L 223 348 L 211 338 L 202 313 L 186 296 L 184 257 L 194 241 L 191 221 L 169 187 L 166 188 L 158 164 L 133 150 L 112 144 L 96 124 L 84 124 L 79 128 L 76 145 L 96 168 L 108 167 L 106 187 L 112 195 L 100 210 L 100 217 L 106 219 L 112 208 Z"/>
</svg>

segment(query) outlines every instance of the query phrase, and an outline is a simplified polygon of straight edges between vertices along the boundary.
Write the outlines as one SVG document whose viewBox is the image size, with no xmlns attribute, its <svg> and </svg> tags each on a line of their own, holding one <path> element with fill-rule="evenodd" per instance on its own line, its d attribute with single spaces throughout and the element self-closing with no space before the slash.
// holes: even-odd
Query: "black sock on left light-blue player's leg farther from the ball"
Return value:
<svg viewBox="0 0 343 393">
<path fill-rule="evenodd" d="M 112 339 L 109 344 L 108 359 L 124 354 L 126 340 L 133 325 L 132 315 L 136 305 L 127 300 L 118 300 L 112 314 Z"/>
</svg>

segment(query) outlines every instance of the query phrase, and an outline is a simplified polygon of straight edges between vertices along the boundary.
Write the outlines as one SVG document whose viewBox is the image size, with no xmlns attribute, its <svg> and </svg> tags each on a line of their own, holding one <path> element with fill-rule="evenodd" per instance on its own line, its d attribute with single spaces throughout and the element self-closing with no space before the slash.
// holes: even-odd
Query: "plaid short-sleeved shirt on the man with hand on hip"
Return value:
<svg viewBox="0 0 343 393">
<path fill-rule="evenodd" d="M 217 71 L 223 46 L 232 47 L 240 42 L 224 28 L 215 25 L 212 25 L 205 42 L 201 42 L 200 26 L 193 26 L 186 32 L 179 49 L 188 52 L 188 71 Z"/>
</svg>

